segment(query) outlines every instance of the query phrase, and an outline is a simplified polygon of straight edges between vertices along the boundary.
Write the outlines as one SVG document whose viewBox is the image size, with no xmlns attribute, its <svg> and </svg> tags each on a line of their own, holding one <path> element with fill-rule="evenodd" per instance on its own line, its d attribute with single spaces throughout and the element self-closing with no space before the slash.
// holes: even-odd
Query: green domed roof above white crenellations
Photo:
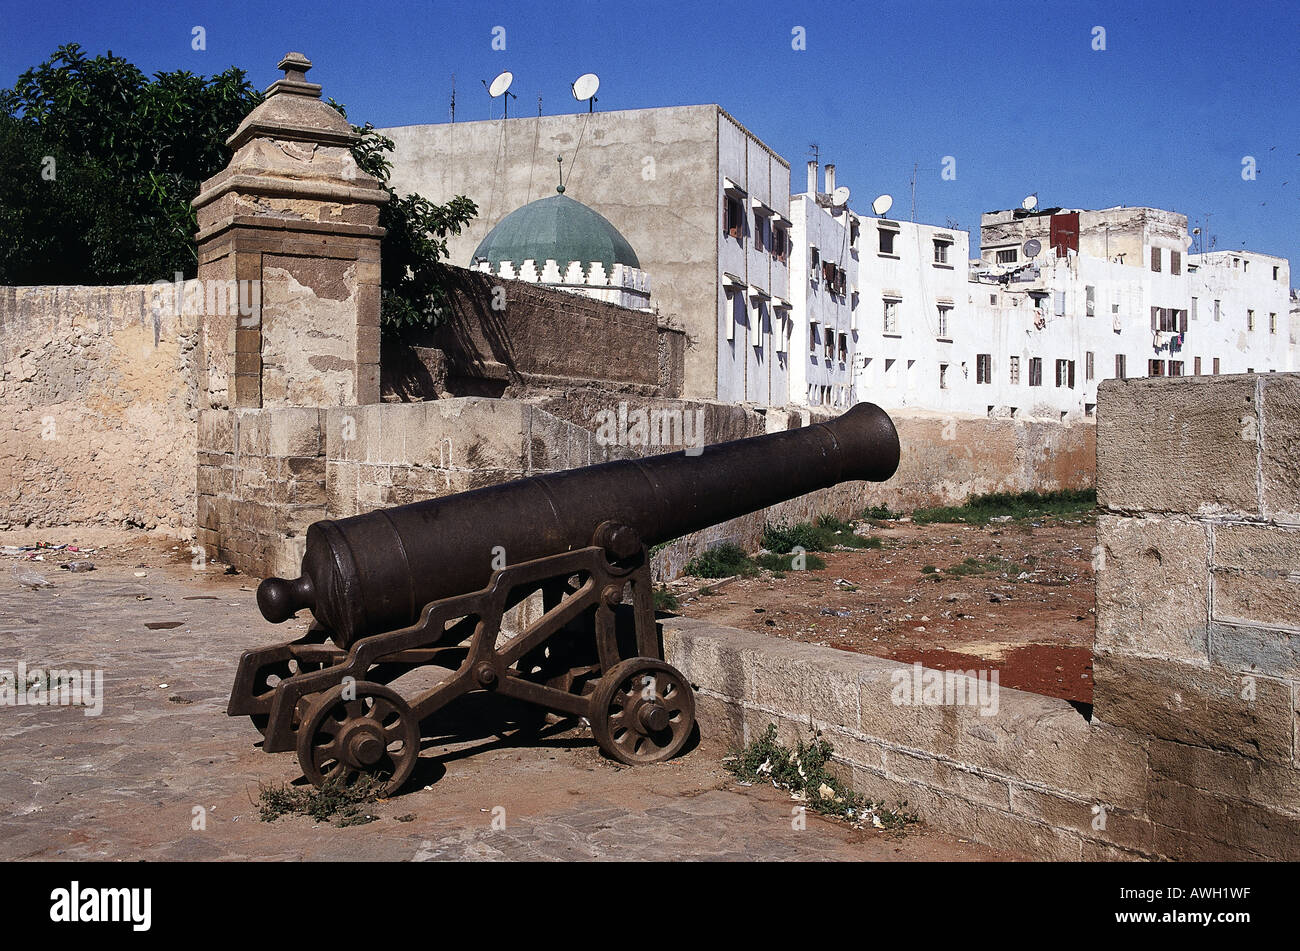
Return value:
<svg viewBox="0 0 1300 951">
<path fill-rule="evenodd" d="M 641 266 L 637 252 L 603 214 L 567 195 L 551 195 L 516 208 L 480 242 L 473 260 L 486 260 L 494 269 L 502 261 L 517 268 L 528 260 L 538 268 L 554 260 L 562 272 L 571 261 L 584 268 L 601 261 L 607 270 L 615 264 Z"/>
</svg>

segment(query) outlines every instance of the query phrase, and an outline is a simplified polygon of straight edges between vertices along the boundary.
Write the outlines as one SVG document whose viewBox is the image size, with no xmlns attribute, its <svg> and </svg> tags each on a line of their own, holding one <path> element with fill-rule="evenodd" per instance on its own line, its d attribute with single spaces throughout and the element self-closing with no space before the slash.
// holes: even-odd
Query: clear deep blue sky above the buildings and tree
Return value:
<svg viewBox="0 0 1300 951">
<path fill-rule="evenodd" d="M 14 3 L 0 0 L 0 86 L 61 43 L 144 71 L 246 69 L 259 87 L 289 49 L 377 126 L 488 118 L 481 81 L 515 73 L 515 114 L 719 103 L 784 155 L 802 188 L 809 144 L 866 209 L 978 234 L 979 213 L 1154 205 L 1201 220 L 1219 248 L 1300 261 L 1300 4 L 1271 3 Z M 203 26 L 207 49 L 191 49 Z M 491 48 L 506 27 L 506 51 Z M 792 29 L 807 48 L 792 49 Z M 1093 51 L 1093 27 L 1105 51 Z M 499 114 L 499 105 L 497 113 Z M 945 156 L 956 181 L 942 181 Z M 1257 178 L 1242 178 L 1244 156 Z"/>
</svg>

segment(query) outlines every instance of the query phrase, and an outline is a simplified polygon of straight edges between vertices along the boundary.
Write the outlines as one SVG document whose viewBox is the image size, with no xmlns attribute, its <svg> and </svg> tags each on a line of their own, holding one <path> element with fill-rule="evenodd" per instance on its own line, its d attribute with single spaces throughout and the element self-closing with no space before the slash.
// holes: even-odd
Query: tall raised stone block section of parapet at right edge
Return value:
<svg viewBox="0 0 1300 951">
<path fill-rule="evenodd" d="M 1300 856 L 1300 374 L 1110 381 L 1096 712 L 1148 738 L 1156 850 Z"/>
</svg>

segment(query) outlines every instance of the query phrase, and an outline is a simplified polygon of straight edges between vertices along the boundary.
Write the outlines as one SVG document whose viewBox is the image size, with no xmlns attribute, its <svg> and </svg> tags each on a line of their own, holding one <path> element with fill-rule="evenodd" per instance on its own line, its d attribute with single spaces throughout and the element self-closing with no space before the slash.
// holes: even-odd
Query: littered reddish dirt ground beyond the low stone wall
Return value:
<svg viewBox="0 0 1300 951">
<path fill-rule="evenodd" d="M 824 553 L 824 570 L 671 589 L 686 617 L 937 669 L 996 669 L 1004 687 L 1092 703 L 1091 517 L 883 521 L 871 534 L 880 548 Z"/>
</svg>

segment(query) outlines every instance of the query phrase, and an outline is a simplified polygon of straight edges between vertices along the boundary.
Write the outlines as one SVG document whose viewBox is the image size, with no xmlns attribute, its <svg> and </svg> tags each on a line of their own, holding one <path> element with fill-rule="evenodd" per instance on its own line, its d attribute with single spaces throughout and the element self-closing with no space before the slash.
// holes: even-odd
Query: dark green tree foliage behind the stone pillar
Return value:
<svg viewBox="0 0 1300 951">
<path fill-rule="evenodd" d="M 226 139 L 263 100 L 240 69 L 139 69 L 77 44 L 0 91 L 0 285 L 124 285 L 198 270 L 190 204 L 230 160 Z M 333 100 L 344 117 L 346 110 Z M 432 325 L 446 305 L 447 236 L 477 213 L 389 186 L 390 139 L 354 126 L 358 165 L 390 197 L 380 213 L 385 323 Z"/>
</svg>

